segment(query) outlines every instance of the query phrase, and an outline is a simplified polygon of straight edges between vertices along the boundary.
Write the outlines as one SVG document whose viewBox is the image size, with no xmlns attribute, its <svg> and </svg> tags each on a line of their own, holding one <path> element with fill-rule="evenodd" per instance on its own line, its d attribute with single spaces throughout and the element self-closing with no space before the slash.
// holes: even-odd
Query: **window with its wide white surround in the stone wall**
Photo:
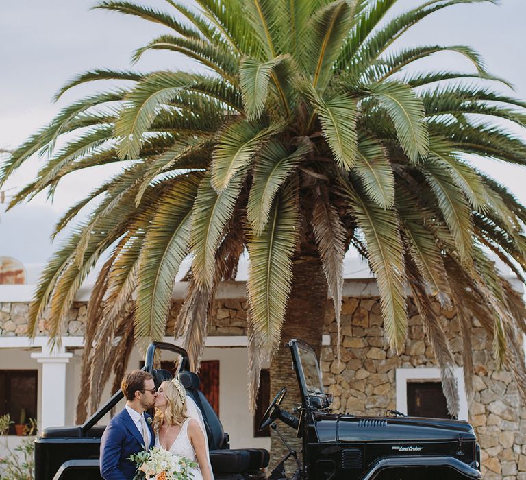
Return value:
<svg viewBox="0 0 526 480">
<path fill-rule="evenodd" d="M 455 378 L 457 379 L 458 396 L 460 408 L 458 411 L 459 420 L 468 421 L 468 399 L 466 388 L 464 387 L 464 372 L 462 368 L 456 367 Z M 435 416 L 442 418 L 440 407 L 443 402 L 445 405 L 442 385 L 440 384 L 440 369 L 438 368 L 397 368 L 397 410 L 410 415 Z M 440 396 L 438 395 L 440 391 Z M 417 405 L 419 404 L 419 405 Z M 429 411 L 438 411 L 432 413 Z M 445 408 L 447 411 L 447 408 Z M 416 412 L 419 413 L 416 413 Z"/>
</svg>

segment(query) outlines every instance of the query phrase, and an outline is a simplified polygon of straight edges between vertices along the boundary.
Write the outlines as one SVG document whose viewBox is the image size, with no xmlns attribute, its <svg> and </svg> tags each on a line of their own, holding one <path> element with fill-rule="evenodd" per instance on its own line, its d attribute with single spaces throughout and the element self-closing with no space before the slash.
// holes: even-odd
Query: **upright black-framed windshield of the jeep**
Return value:
<svg viewBox="0 0 526 480">
<path fill-rule="evenodd" d="M 316 353 L 309 344 L 301 340 L 292 340 L 289 346 L 304 402 L 311 406 L 326 407 L 327 397 Z"/>
</svg>

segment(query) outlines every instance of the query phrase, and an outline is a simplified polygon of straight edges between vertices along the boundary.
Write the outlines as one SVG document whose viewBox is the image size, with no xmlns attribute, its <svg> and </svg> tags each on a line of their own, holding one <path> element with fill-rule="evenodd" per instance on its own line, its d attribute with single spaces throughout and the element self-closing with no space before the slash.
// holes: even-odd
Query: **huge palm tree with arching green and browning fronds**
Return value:
<svg viewBox="0 0 526 480">
<path fill-rule="evenodd" d="M 196 0 L 199 10 L 166 1 L 171 12 L 111 0 L 97 8 L 167 27 L 134 60 L 168 50 L 201 73 L 79 75 L 57 97 L 84 82 L 125 82 L 64 108 L 0 171 L 5 182 L 33 154 L 46 156 L 12 207 L 45 189 L 52 195 L 69 173 L 122 165 L 58 221 L 53 235 L 93 205 L 49 261 L 30 311 L 29 333 L 49 312 L 58 339 L 77 289 L 108 252 L 88 304 L 78 419 L 98 404 L 107 365 L 121 376 L 134 338 L 164 335 L 188 255 L 176 334 L 199 364 L 214 292 L 234 278 L 245 249 L 251 392 L 264 357 L 272 359 L 272 391 L 290 386 L 281 339 L 303 337 L 319 350 L 327 293 L 339 325 L 349 249 L 375 274 L 395 350 L 405 340 L 410 288 L 450 411 L 458 408 L 455 361 L 432 296 L 460 319 L 468 391 L 472 315 L 523 388 L 525 307 L 488 252 L 525 280 L 526 210 L 471 160 L 524 165 L 526 145 L 505 123 L 523 127 L 526 105 L 494 89 L 503 81 L 469 47 L 391 48 L 429 14 L 490 0 L 427 0 L 389 21 L 396 0 Z M 467 58 L 474 73 L 414 67 L 442 51 Z"/>
</svg>

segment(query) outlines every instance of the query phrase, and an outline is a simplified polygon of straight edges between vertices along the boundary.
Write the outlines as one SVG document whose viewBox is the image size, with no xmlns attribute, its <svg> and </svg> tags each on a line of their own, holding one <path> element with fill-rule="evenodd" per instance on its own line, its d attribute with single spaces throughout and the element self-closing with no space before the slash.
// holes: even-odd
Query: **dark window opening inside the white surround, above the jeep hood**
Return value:
<svg viewBox="0 0 526 480">
<path fill-rule="evenodd" d="M 451 418 L 442 383 L 408 382 L 408 415 L 427 418 Z"/>
</svg>

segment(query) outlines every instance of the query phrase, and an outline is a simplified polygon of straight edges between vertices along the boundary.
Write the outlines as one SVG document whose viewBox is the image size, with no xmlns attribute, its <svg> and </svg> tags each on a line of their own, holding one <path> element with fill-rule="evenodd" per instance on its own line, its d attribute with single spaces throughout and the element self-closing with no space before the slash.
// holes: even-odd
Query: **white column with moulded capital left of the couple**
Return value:
<svg viewBox="0 0 526 480">
<path fill-rule="evenodd" d="M 62 427 L 66 424 L 67 364 L 73 353 L 66 353 L 64 347 L 51 351 L 46 345 L 41 353 L 32 353 L 31 357 L 42 363 L 40 429 Z"/>
</svg>

